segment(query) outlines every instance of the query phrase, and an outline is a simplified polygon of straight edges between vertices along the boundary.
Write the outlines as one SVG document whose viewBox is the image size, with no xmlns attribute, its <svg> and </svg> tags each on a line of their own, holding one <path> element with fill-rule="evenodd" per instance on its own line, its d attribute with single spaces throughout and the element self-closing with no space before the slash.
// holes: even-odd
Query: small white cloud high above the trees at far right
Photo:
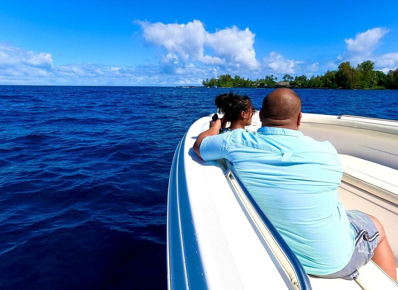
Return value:
<svg viewBox="0 0 398 290">
<path fill-rule="evenodd" d="M 376 27 L 365 32 L 357 33 L 355 38 L 345 39 L 347 50 L 350 53 L 369 55 L 379 45 L 380 40 L 388 33 L 388 29 Z"/>
</svg>

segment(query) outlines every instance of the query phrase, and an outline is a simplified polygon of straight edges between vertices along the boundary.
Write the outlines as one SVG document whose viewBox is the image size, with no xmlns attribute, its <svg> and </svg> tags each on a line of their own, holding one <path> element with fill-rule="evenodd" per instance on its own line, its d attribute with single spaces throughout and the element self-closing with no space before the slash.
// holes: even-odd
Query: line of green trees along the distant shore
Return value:
<svg viewBox="0 0 398 290">
<path fill-rule="evenodd" d="M 337 70 L 328 70 L 324 75 L 313 75 L 307 79 L 305 74 L 295 78 L 289 74 L 283 76 L 282 81 L 289 81 L 293 88 L 330 88 L 330 89 L 398 89 L 398 69 L 390 70 L 387 74 L 374 70 L 374 63 L 365 61 L 357 67 L 350 62 L 343 62 Z M 231 74 L 220 75 L 217 79 L 206 79 L 202 82 L 206 87 L 275 87 L 278 78 L 271 74 L 264 79 L 252 81 Z"/>
</svg>

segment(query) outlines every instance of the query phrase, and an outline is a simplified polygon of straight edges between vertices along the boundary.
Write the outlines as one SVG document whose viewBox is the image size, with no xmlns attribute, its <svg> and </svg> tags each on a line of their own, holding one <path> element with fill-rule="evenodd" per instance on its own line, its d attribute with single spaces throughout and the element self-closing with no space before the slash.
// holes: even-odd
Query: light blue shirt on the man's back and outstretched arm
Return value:
<svg viewBox="0 0 398 290">
<path fill-rule="evenodd" d="M 336 149 L 302 132 L 262 127 L 206 137 L 203 160 L 225 158 L 308 274 L 336 273 L 350 261 L 354 231 L 337 188 Z"/>
</svg>

